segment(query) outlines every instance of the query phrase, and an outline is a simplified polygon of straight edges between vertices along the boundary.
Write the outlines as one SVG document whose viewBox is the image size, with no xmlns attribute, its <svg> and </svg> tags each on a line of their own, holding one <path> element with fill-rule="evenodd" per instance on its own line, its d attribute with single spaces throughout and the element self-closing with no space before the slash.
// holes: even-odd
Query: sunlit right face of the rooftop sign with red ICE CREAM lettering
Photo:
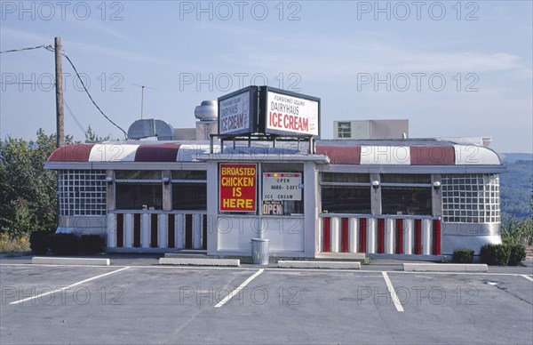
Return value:
<svg viewBox="0 0 533 345">
<path fill-rule="evenodd" d="M 318 102 L 267 92 L 266 132 L 318 135 Z"/>
</svg>

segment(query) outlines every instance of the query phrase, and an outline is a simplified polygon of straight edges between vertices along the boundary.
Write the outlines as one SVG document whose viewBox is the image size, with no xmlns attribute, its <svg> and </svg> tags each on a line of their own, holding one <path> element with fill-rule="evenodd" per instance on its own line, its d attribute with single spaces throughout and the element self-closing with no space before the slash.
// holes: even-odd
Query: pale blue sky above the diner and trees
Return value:
<svg viewBox="0 0 533 345">
<path fill-rule="evenodd" d="M 194 127 L 195 107 L 250 84 L 321 99 L 333 121 L 409 119 L 411 138 L 490 136 L 533 151 L 531 1 L 0 2 L 0 51 L 52 44 L 127 132 Z M 65 132 L 123 139 L 63 59 Z M 0 54 L 0 138 L 55 132 L 54 54 Z M 79 123 L 79 124 L 78 124 Z"/>
</svg>

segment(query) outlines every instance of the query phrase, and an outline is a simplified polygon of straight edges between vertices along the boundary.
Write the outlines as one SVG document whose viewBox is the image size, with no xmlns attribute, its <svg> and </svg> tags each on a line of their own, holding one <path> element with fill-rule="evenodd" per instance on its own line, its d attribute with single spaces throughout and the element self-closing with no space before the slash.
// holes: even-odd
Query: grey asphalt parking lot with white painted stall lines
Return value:
<svg viewBox="0 0 533 345">
<path fill-rule="evenodd" d="M 0 342 L 530 343 L 533 278 L 517 272 L 4 260 Z"/>
</svg>

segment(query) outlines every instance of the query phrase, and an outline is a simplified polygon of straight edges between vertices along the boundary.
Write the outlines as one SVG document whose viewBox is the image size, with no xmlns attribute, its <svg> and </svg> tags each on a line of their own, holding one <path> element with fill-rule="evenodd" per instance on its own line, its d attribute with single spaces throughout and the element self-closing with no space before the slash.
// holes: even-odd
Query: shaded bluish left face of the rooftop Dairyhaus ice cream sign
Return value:
<svg viewBox="0 0 533 345">
<path fill-rule="evenodd" d="M 219 101 L 219 134 L 250 130 L 250 91 Z"/>
</svg>

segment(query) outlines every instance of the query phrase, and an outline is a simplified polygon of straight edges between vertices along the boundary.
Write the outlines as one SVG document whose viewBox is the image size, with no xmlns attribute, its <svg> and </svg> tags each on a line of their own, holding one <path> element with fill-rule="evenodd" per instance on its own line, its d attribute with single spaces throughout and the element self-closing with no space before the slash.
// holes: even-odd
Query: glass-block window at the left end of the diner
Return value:
<svg viewBox="0 0 533 345">
<path fill-rule="evenodd" d="M 60 215 L 105 215 L 106 172 L 103 170 L 60 170 Z"/>
</svg>

